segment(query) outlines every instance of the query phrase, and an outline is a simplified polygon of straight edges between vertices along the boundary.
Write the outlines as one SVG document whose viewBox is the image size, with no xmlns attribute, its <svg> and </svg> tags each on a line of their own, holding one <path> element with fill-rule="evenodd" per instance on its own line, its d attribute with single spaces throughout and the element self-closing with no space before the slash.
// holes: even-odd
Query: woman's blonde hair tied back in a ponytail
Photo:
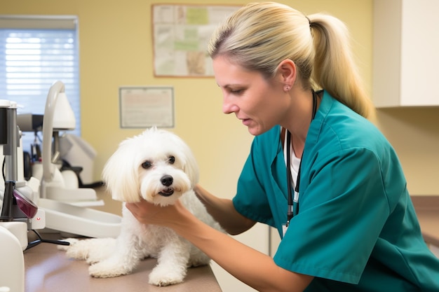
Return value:
<svg viewBox="0 0 439 292">
<path fill-rule="evenodd" d="M 306 16 L 283 4 L 250 3 L 217 28 L 208 54 L 212 59 L 225 55 L 265 78 L 275 76 L 278 64 L 290 59 L 304 89 L 323 88 L 361 116 L 373 114 L 353 62 L 348 29 L 331 15 Z"/>
</svg>

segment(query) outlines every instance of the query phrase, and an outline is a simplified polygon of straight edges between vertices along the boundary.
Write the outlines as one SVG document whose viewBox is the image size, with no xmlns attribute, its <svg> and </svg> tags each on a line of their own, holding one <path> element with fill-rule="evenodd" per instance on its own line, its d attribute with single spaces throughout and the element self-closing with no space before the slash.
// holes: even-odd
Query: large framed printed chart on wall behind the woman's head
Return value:
<svg viewBox="0 0 439 292">
<path fill-rule="evenodd" d="M 240 6 L 153 5 L 154 75 L 213 76 L 206 50 L 216 27 Z"/>
</svg>

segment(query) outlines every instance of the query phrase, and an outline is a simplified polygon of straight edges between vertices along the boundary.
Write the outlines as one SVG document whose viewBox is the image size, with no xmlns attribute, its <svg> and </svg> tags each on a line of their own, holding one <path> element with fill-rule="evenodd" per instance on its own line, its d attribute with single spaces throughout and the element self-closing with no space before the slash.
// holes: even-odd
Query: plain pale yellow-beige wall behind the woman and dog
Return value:
<svg viewBox="0 0 439 292">
<path fill-rule="evenodd" d="M 212 1 L 218 4 L 220 1 Z M 221 1 L 244 4 L 248 1 Z M 282 1 L 304 13 L 326 11 L 349 26 L 360 72 L 371 92 L 372 0 Z M 205 0 L 4 0 L 0 14 L 78 15 L 83 138 L 97 151 L 95 179 L 126 137 L 140 130 L 119 128 L 119 86 L 173 85 L 176 126 L 201 167 L 201 183 L 217 195 L 234 195 L 252 137 L 234 116 L 222 113 L 213 78 L 154 78 L 151 4 L 205 4 Z M 403 162 L 415 194 L 439 193 L 439 109 L 379 111 L 377 123 Z"/>
</svg>

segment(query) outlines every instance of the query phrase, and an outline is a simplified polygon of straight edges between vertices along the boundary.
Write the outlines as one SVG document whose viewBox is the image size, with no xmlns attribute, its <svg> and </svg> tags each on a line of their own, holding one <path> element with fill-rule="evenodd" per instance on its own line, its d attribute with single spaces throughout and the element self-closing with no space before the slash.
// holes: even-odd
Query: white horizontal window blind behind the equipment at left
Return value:
<svg viewBox="0 0 439 292">
<path fill-rule="evenodd" d="M 65 84 L 75 114 L 76 128 L 69 132 L 80 136 L 76 17 L 0 15 L 0 99 L 17 102 L 18 114 L 43 114 L 55 81 Z M 23 133 L 23 150 L 32 143 L 34 133 Z"/>
</svg>

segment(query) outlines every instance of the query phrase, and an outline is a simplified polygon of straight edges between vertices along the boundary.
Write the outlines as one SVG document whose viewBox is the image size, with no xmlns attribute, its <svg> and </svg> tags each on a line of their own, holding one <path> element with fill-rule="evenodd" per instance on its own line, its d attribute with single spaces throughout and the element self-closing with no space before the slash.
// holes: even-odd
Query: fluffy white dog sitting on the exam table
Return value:
<svg viewBox="0 0 439 292">
<path fill-rule="evenodd" d="M 152 127 L 123 141 L 104 167 L 104 181 L 114 200 L 147 200 L 166 206 L 180 200 L 201 221 L 222 230 L 194 193 L 198 167 L 189 146 L 166 130 Z M 167 286 L 184 280 L 187 267 L 210 258 L 170 228 L 139 223 L 123 203 L 121 234 L 114 238 L 67 239 L 67 256 L 87 260 L 92 277 L 132 272 L 143 258 L 157 258 L 149 284 Z"/>
</svg>

